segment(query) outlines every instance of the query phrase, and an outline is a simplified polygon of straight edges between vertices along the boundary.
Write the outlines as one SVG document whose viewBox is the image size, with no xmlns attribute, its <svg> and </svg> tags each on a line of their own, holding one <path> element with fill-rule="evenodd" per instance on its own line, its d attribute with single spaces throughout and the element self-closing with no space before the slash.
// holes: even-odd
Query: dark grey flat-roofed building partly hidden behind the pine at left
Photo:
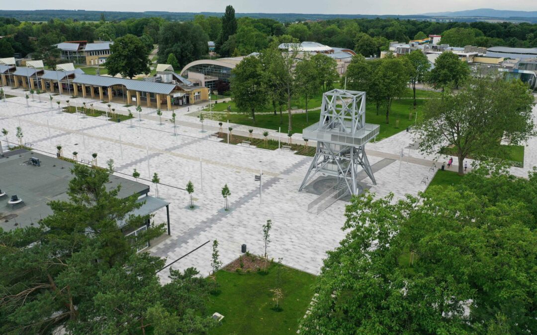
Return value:
<svg viewBox="0 0 537 335">
<path fill-rule="evenodd" d="M 32 163 L 32 159 L 39 160 L 39 165 Z M 74 163 L 43 155 L 34 151 L 15 150 L 5 153 L 0 157 L 0 189 L 6 194 L 0 197 L 0 227 L 3 230 L 24 228 L 38 225 L 39 221 L 53 211 L 48 203 L 53 200 L 69 200 L 67 191 L 69 182 L 74 177 L 71 169 Z M 106 184 L 108 191 L 121 185 L 118 197 L 121 199 L 137 195 L 137 202 L 143 203 L 133 214 L 146 217 L 169 204 L 165 200 L 149 196 L 149 186 L 136 181 L 128 180 L 115 175 L 110 175 L 110 182 Z M 16 205 L 9 205 L 11 196 L 17 195 L 22 200 Z M 168 234 L 169 211 L 168 213 Z M 149 218 L 143 226 L 136 229 L 125 229 L 126 235 L 136 234 L 140 230 L 149 227 Z M 118 222 L 122 228 L 124 222 Z"/>
</svg>

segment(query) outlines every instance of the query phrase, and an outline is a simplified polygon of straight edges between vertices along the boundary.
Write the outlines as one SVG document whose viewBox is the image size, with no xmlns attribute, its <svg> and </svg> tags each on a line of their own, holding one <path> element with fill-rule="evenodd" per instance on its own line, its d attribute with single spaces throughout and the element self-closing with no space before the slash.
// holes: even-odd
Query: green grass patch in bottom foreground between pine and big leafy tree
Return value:
<svg viewBox="0 0 537 335">
<path fill-rule="evenodd" d="M 281 311 L 272 309 L 270 291 L 275 288 L 277 266 L 283 270 Z M 315 277 L 278 264 L 271 265 L 268 272 L 216 273 L 220 294 L 211 296 L 208 307 L 211 315 L 219 312 L 224 318 L 211 334 L 296 334 L 313 297 Z"/>
</svg>

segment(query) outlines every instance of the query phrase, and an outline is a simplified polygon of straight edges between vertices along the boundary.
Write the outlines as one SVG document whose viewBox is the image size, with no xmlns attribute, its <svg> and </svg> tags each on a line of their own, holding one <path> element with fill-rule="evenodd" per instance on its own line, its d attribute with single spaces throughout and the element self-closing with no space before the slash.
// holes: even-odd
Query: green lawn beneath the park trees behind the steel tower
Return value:
<svg viewBox="0 0 537 335">
<path fill-rule="evenodd" d="M 424 100 L 418 100 L 417 111 L 418 111 L 418 120 L 422 115 L 423 105 L 425 104 Z M 215 106 L 222 106 L 222 109 L 225 110 L 228 103 L 218 103 Z M 213 110 L 217 110 L 213 108 Z M 233 107 L 232 109 L 233 110 Z M 386 124 L 386 109 L 380 109 L 379 115 L 376 115 L 376 109 L 374 104 L 368 103 L 366 106 L 366 122 L 380 124 L 380 133 L 376 137 L 376 140 L 390 137 L 400 131 L 405 130 L 408 126 L 414 124 L 415 114 L 412 115 L 412 120 L 409 120 L 409 113 L 412 110 L 412 100 L 411 99 L 401 99 L 394 100 L 391 105 L 390 113 L 390 123 Z M 306 128 L 308 125 L 316 123 L 319 121 L 321 111 L 315 110 L 308 112 L 309 122 L 306 122 L 306 114 L 293 114 L 293 131 L 302 132 L 302 129 Z M 206 117 L 209 117 L 206 114 Z M 273 114 L 259 114 L 256 115 L 256 123 L 252 122 L 250 114 L 246 113 L 229 113 L 228 114 L 213 114 L 213 118 L 220 121 L 227 121 L 229 117 L 229 122 L 244 124 L 250 126 L 256 126 L 266 129 L 278 130 L 278 127 L 281 126 L 281 132 L 287 133 L 287 124 L 288 124 L 288 114 L 283 114 L 283 123 L 280 124 L 280 115 Z M 395 127 L 396 120 L 399 120 L 398 128 Z"/>
</svg>

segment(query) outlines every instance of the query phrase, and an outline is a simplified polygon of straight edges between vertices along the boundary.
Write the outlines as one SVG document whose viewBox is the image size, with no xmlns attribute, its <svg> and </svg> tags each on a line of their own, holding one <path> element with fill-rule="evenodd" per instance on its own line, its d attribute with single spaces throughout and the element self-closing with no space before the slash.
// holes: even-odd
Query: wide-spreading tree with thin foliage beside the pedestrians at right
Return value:
<svg viewBox="0 0 537 335">
<path fill-rule="evenodd" d="M 439 147 L 453 145 L 463 175 L 469 154 L 495 157 L 503 150 L 502 140 L 517 145 L 534 136 L 533 105 L 533 96 L 519 80 L 470 79 L 460 93 L 445 90 L 427 102 L 415 129 L 419 148 L 436 154 Z"/>
</svg>

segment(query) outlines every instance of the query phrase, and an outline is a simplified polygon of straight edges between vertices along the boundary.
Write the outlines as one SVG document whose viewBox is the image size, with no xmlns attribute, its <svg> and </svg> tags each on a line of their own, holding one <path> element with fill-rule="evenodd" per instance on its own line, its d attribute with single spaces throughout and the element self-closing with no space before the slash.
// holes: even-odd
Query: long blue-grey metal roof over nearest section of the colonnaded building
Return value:
<svg viewBox="0 0 537 335">
<path fill-rule="evenodd" d="M 115 78 L 107 76 L 93 75 L 76 75 L 72 80 L 76 84 L 93 85 L 93 86 L 113 86 L 124 85 L 127 90 L 150 92 L 155 94 L 170 94 L 175 90 L 173 84 L 153 83 L 151 81 L 133 80 L 125 78 Z"/>
</svg>

